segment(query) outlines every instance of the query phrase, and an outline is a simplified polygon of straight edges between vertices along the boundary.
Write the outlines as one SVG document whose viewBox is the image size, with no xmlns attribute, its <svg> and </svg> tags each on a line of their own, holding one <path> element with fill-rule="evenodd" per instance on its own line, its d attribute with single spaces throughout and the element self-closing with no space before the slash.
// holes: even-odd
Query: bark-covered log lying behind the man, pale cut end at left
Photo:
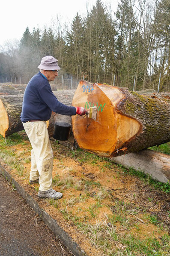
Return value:
<svg viewBox="0 0 170 256">
<path fill-rule="evenodd" d="M 57 99 L 66 104 L 72 105 L 72 98 L 75 90 L 54 91 Z M 24 130 L 20 120 L 22 110 L 23 94 L 22 95 L 0 95 L 0 134 L 5 137 L 12 133 Z M 53 115 L 51 115 L 50 125 L 48 126 L 49 136 L 53 136 L 52 124 Z M 54 119 L 55 120 L 55 119 Z"/>
</svg>

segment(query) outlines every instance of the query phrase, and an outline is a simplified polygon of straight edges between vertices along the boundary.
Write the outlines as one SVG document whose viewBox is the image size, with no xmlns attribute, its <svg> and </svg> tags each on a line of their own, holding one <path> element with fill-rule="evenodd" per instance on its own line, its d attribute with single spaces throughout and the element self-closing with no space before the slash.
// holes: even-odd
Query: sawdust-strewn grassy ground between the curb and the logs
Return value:
<svg viewBox="0 0 170 256">
<path fill-rule="evenodd" d="M 170 194 L 107 159 L 51 141 L 53 188 L 63 198 L 39 199 L 39 185 L 28 183 L 30 142 L 24 132 L 20 136 L 21 142 L 11 143 L 8 150 L 24 166 L 23 172 L 11 168 L 9 160 L 3 160 L 4 167 L 86 253 L 169 255 Z"/>
</svg>

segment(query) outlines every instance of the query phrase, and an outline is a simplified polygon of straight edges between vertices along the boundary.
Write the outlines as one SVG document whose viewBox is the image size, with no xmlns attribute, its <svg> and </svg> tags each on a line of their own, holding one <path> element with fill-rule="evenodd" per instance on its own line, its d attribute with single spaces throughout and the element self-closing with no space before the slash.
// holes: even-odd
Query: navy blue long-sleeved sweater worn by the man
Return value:
<svg viewBox="0 0 170 256">
<path fill-rule="evenodd" d="M 76 108 L 59 102 L 51 90 L 48 80 L 39 71 L 28 83 L 22 104 L 20 119 L 23 123 L 29 120 L 47 121 L 51 111 L 63 115 L 75 115 Z"/>
</svg>

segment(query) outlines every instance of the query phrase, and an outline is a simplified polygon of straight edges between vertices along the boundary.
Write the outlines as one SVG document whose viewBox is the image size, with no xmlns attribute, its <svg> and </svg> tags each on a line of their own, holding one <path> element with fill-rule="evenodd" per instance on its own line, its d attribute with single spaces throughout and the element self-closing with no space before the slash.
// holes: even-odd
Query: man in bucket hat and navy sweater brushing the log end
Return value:
<svg viewBox="0 0 170 256">
<path fill-rule="evenodd" d="M 25 92 L 21 121 L 32 145 L 30 184 L 38 183 L 38 196 L 59 199 L 62 193 L 52 189 L 53 151 L 48 136 L 46 120 L 51 111 L 63 115 L 83 115 L 85 108 L 67 106 L 54 96 L 49 81 L 58 76 L 60 67 L 52 56 L 42 58 L 39 73 L 31 78 Z"/>
</svg>

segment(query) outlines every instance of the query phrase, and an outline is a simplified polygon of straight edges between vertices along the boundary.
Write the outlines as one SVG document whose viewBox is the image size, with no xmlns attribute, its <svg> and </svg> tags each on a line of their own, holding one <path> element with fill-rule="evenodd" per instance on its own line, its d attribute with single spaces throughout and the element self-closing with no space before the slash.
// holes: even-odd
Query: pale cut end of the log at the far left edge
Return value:
<svg viewBox="0 0 170 256">
<path fill-rule="evenodd" d="M 0 100 L 0 135 L 5 138 L 5 133 L 9 127 L 8 114 L 6 108 L 3 105 L 3 102 Z"/>
</svg>

